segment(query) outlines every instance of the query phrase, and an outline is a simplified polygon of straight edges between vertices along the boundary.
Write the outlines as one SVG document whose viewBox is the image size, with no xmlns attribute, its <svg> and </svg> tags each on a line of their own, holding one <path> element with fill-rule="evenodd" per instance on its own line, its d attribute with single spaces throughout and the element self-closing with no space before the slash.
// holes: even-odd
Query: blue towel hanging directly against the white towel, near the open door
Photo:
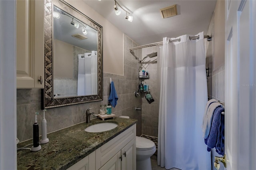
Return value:
<svg viewBox="0 0 256 170">
<path fill-rule="evenodd" d="M 212 117 L 212 126 L 210 129 L 210 134 L 207 138 L 207 150 L 210 152 L 211 148 L 216 147 L 218 136 L 220 132 L 220 124 L 221 124 L 221 113 L 224 111 L 224 108 L 217 107 L 214 111 Z M 206 142 L 206 141 L 205 141 Z"/>
</svg>

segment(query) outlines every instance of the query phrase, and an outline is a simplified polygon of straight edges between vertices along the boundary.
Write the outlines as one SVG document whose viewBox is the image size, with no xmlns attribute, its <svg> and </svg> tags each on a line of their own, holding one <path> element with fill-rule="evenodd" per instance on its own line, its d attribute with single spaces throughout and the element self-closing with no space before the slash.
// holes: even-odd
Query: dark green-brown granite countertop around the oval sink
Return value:
<svg viewBox="0 0 256 170">
<path fill-rule="evenodd" d="M 47 134 L 47 138 L 49 138 L 50 141 L 46 144 L 41 144 L 42 149 L 39 151 L 31 152 L 30 150 L 18 150 L 18 170 L 67 169 L 134 125 L 137 120 L 116 117 L 104 121 L 118 123 L 118 127 L 112 130 L 98 133 L 84 131 L 84 129 L 90 125 L 100 122 L 103 121 L 97 118 L 91 120 L 91 123 L 80 123 L 49 133 Z M 32 139 L 19 143 L 17 147 L 23 147 L 30 143 L 33 143 Z M 31 148 L 31 146 L 28 147 Z"/>
</svg>

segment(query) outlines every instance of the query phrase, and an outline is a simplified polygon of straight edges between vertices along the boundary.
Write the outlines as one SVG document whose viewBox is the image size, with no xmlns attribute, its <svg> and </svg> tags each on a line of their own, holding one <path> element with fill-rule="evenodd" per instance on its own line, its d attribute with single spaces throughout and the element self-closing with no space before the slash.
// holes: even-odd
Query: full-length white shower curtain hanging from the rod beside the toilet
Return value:
<svg viewBox="0 0 256 170">
<path fill-rule="evenodd" d="M 199 40 L 164 38 L 159 57 L 160 105 L 158 165 L 181 170 L 210 170 L 210 152 L 202 138 L 207 102 L 204 33 Z"/>
</svg>

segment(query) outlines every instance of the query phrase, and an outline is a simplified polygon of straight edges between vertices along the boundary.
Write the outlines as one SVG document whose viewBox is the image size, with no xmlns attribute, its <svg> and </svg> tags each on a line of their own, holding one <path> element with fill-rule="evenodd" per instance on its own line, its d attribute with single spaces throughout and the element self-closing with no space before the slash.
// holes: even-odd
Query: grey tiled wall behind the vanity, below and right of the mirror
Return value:
<svg viewBox="0 0 256 170">
<path fill-rule="evenodd" d="M 124 35 L 124 75 L 103 73 L 103 101 L 57 107 L 47 109 L 46 120 L 48 132 L 53 132 L 85 121 L 85 111 L 90 107 L 95 113 L 99 113 L 100 105 L 108 103 L 110 93 L 110 78 L 114 81 L 118 94 L 118 104 L 112 108 L 116 116 L 127 115 L 131 119 L 137 119 L 137 136 L 142 132 L 142 112 L 135 111 L 135 107 L 142 108 L 141 97 L 136 98 L 134 91 L 137 87 L 137 60 L 129 49 L 138 46 L 134 41 Z M 136 56 L 142 56 L 142 50 L 134 50 Z M 39 112 L 39 127 L 42 119 L 42 89 L 17 89 L 17 137 L 20 141 L 32 138 L 32 125 L 34 113 Z"/>
</svg>

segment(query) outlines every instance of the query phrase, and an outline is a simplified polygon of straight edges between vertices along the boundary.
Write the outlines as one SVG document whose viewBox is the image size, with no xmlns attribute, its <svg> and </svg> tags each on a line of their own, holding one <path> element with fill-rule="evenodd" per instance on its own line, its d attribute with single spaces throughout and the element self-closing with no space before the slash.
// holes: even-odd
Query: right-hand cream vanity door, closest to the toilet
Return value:
<svg viewBox="0 0 256 170">
<path fill-rule="evenodd" d="M 122 148 L 122 170 L 136 170 L 136 138 Z"/>
</svg>

